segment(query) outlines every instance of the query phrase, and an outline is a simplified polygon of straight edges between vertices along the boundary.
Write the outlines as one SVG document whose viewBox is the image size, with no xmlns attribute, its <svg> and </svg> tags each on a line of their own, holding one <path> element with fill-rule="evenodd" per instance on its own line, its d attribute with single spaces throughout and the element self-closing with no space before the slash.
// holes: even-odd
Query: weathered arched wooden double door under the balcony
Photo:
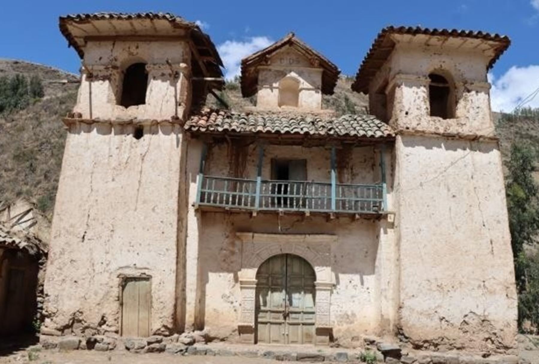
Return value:
<svg viewBox="0 0 539 364">
<path fill-rule="evenodd" d="M 314 269 L 300 256 L 272 256 L 258 268 L 256 333 L 266 344 L 314 344 Z"/>
</svg>

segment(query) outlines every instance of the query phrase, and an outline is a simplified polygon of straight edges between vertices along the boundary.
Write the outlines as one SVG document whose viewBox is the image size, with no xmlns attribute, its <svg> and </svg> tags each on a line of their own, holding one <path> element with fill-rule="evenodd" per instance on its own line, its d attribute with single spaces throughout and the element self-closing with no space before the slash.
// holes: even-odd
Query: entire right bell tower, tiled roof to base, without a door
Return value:
<svg viewBox="0 0 539 364">
<path fill-rule="evenodd" d="M 390 26 L 352 86 L 397 133 L 398 326 L 415 347 L 514 345 L 513 254 L 487 81 L 509 44 L 498 34 Z M 486 330 L 490 343 L 476 334 Z"/>
</svg>

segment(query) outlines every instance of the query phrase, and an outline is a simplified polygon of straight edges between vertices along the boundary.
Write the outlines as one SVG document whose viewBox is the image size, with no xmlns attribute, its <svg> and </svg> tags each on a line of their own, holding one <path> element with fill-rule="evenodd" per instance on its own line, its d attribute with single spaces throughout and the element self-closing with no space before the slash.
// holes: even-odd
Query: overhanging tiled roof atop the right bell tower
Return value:
<svg viewBox="0 0 539 364">
<path fill-rule="evenodd" d="M 490 69 L 503 52 L 511 44 L 509 37 L 500 34 L 483 33 L 481 31 L 467 31 L 457 29 L 437 29 L 437 28 L 423 28 L 420 26 L 406 27 L 406 26 L 388 26 L 382 29 L 375 41 L 372 43 L 369 52 L 363 59 L 361 66 L 356 74 L 356 80 L 352 84 L 352 89 L 357 92 L 368 92 L 369 83 L 376 75 L 378 70 L 384 65 L 385 61 L 389 58 L 393 48 L 395 47 L 395 41 L 391 38 L 393 34 L 405 34 L 405 35 L 427 35 L 430 37 L 444 37 L 444 38 L 464 38 L 466 39 L 479 39 L 486 42 L 492 42 L 492 56 L 488 62 L 487 68 Z"/>
</svg>

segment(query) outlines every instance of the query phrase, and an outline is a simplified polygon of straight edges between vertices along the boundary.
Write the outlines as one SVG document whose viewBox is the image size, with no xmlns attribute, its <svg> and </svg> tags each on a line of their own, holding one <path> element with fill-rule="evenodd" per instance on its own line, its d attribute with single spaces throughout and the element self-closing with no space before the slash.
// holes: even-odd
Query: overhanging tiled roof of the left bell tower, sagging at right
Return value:
<svg viewBox="0 0 539 364">
<path fill-rule="evenodd" d="M 119 23 L 120 22 L 120 23 Z M 125 26 L 120 25 L 125 23 Z M 98 12 L 66 15 L 59 18 L 60 32 L 69 46 L 75 48 L 80 58 L 88 37 L 107 35 L 152 37 L 157 35 L 179 35 L 187 31 L 195 51 L 202 58 L 210 77 L 222 77 L 220 66 L 223 61 L 208 34 L 192 22 L 172 13 L 116 13 Z"/>
</svg>

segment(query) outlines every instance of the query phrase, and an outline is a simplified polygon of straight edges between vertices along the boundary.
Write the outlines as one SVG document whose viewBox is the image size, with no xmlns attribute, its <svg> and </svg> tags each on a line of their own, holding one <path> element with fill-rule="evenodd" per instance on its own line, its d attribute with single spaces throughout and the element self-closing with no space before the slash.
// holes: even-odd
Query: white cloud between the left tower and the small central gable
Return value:
<svg viewBox="0 0 539 364">
<path fill-rule="evenodd" d="M 227 40 L 217 47 L 226 68 L 225 78 L 230 80 L 240 74 L 241 59 L 271 45 L 268 37 L 250 37 L 245 41 Z"/>
</svg>

